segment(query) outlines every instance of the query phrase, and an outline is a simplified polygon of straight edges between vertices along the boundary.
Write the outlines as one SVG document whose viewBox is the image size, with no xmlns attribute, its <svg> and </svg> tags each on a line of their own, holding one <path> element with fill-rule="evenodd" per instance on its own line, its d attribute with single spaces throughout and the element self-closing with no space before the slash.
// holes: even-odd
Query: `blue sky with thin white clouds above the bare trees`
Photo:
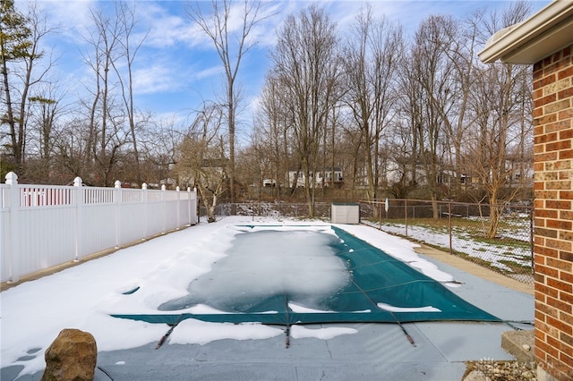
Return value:
<svg viewBox="0 0 573 381">
<path fill-rule="evenodd" d="M 132 2 L 130 2 L 131 4 Z M 210 2 L 201 1 L 209 5 Z M 362 1 L 315 1 L 321 4 L 338 27 L 344 32 L 346 26 L 354 21 L 355 14 L 365 4 Z M 509 5 L 509 1 L 410 1 L 410 0 L 372 0 L 373 11 L 384 14 L 390 21 L 400 22 L 411 34 L 420 21 L 431 14 L 451 14 L 463 16 L 485 7 L 488 10 Z M 549 0 L 530 2 L 537 11 Z M 23 8 L 24 0 L 16 0 Z M 81 52 L 85 51 L 91 9 L 109 9 L 110 1 L 91 0 L 39 0 L 45 9 L 47 21 L 57 26 L 58 33 L 45 41 L 47 50 L 53 50 L 57 57 L 55 77 L 70 94 L 85 92 L 90 81 L 89 68 L 82 63 Z M 141 30 L 149 28 L 141 51 L 134 64 L 134 89 L 137 107 L 149 110 L 167 120 L 184 120 L 201 100 L 211 100 L 221 93 L 222 68 L 212 44 L 192 24 L 185 9 L 187 1 L 147 1 L 133 2 L 136 17 L 141 19 Z M 269 50 L 272 49 L 281 21 L 291 13 L 312 4 L 309 1 L 274 1 L 266 5 L 265 12 L 273 14 L 254 30 L 252 38 L 258 45 L 245 56 L 241 65 L 240 83 L 244 89 L 243 120 L 251 120 L 251 111 L 256 105 L 264 73 L 269 66 Z M 141 36 L 141 34 L 140 34 Z M 137 39 L 137 38 L 135 38 Z"/>
</svg>

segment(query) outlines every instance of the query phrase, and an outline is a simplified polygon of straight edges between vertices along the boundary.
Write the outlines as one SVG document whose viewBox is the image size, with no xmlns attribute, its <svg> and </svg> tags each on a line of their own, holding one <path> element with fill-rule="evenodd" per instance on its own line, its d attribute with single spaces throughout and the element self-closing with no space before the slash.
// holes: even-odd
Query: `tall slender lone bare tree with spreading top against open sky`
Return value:
<svg viewBox="0 0 573 381">
<path fill-rule="evenodd" d="M 201 4 L 195 3 L 188 10 L 189 17 L 199 25 L 201 30 L 213 42 L 225 71 L 225 106 L 227 108 L 229 139 L 229 186 L 231 201 L 235 199 L 235 129 L 238 94 L 238 73 L 244 55 L 254 47 L 255 42 L 249 38 L 253 27 L 263 20 L 261 3 L 244 0 L 240 6 L 230 0 L 211 0 L 210 13 L 202 11 Z M 233 14 L 232 14 L 233 13 Z M 231 17 L 239 14 L 238 27 L 231 25 Z"/>
</svg>

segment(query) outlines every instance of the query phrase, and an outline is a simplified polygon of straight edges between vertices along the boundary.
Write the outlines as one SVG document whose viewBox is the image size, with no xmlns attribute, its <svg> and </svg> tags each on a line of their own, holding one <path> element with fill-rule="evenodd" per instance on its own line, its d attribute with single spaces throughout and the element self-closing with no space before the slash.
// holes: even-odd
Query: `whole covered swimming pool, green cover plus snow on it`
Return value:
<svg viewBox="0 0 573 381">
<path fill-rule="evenodd" d="M 163 299 L 156 312 L 112 316 L 170 325 L 188 318 L 285 326 L 498 321 L 442 282 L 340 226 L 236 225 L 233 229 L 235 238 L 224 255 L 211 264 L 210 271 L 185 284 L 184 292 Z"/>
</svg>

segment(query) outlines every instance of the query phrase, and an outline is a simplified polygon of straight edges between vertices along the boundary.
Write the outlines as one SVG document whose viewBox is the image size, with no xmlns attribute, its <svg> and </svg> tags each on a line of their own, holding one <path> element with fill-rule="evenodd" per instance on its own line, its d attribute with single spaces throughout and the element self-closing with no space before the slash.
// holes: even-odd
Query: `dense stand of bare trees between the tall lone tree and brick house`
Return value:
<svg viewBox="0 0 573 381">
<path fill-rule="evenodd" d="M 434 217 L 444 198 L 502 205 L 527 197 L 531 69 L 483 64 L 477 53 L 529 12 L 520 2 L 462 19 L 432 15 L 411 39 L 399 23 L 373 16 L 372 5 L 346 30 L 316 5 L 289 16 L 248 148 L 260 158 L 253 178 L 339 165 L 363 198 L 431 199 Z M 320 187 L 309 177 L 312 210 Z M 492 220 L 499 213 L 493 207 Z"/>
</svg>

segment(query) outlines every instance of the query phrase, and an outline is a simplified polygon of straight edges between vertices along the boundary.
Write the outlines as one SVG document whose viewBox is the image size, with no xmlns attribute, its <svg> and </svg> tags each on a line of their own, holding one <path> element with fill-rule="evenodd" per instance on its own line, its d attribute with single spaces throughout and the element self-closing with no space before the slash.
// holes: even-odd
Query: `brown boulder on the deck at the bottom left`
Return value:
<svg viewBox="0 0 573 381">
<path fill-rule="evenodd" d="M 79 329 L 64 329 L 46 351 L 42 381 L 92 381 L 98 360 L 93 335 Z"/>
</svg>

